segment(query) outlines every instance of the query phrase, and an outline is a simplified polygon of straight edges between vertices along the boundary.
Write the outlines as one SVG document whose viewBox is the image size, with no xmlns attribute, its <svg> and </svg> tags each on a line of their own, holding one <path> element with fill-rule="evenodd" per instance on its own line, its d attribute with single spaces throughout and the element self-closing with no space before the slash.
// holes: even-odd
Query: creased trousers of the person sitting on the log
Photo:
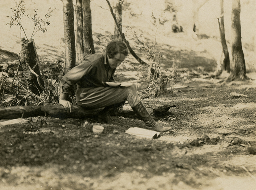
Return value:
<svg viewBox="0 0 256 190">
<path fill-rule="evenodd" d="M 76 90 L 76 102 L 84 108 L 103 108 L 126 100 L 131 107 L 135 107 L 140 102 L 135 85 L 114 88 L 78 88 Z"/>
</svg>

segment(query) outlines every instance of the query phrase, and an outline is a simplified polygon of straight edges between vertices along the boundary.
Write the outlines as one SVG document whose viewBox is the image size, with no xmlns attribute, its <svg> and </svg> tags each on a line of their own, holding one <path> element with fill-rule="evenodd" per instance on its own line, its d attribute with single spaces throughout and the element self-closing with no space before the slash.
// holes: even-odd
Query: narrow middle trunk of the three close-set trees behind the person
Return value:
<svg viewBox="0 0 256 190">
<path fill-rule="evenodd" d="M 82 0 L 76 0 L 76 60 L 83 59 L 83 8 Z"/>
</svg>

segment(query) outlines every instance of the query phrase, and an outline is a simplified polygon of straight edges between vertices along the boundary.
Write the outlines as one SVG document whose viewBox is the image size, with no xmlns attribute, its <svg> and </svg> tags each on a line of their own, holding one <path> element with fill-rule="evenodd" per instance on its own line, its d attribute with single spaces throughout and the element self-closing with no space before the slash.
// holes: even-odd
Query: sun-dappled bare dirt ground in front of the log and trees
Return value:
<svg viewBox="0 0 256 190">
<path fill-rule="evenodd" d="M 158 139 L 125 133 L 146 128 L 134 117 L 98 135 L 90 118 L 1 126 L 0 189 L 255 189 L 255 80 L 186 76 L 174 95 L 143 100 L 176 106 L 154 115 L 172 126 Z"/>
</svg>

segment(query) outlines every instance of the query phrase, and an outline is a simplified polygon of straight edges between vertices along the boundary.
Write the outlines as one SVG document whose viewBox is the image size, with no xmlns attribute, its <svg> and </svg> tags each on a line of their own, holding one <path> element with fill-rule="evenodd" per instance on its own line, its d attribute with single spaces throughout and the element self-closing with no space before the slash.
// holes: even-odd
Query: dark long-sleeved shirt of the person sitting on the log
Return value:
<svg viewBox="0 0 256 190">
<path fill-rule="evenodd" d="M 75 84 L 78 88 L 106 87 L 105 82 L 114 80 L 115 71 L 109 66 L 105 53 L 86 56 L 81 64 L 72 68 L 60 80 L 60 99 L 67 99 Z"/>
</svg>

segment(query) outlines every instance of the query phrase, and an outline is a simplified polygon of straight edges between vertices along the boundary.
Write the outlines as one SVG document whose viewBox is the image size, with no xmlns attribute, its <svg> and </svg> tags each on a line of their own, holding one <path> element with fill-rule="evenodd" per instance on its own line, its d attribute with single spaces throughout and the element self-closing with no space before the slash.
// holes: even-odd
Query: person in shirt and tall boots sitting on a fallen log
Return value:
<svg viewBox="0 0 256 190">
<path fill-rule="evenodd" d="M 129 87 L 110 87 L 106 82 L 114 82 L 114 72 L 128 55 L 128 49 L 122 41 L 111 41 L 105 53 L 88 55 L 81 64 L 72 68 L 60 81 L 59 103 L 65 110 L 71 112 L 71 102 L 68 95 L 77 84 L 76 102 L 87 109 L 104 108 L 99 115 L 108 115 L 109 107 L 128 101 L 133 111 L 142 119 L 148 129 L 164 132 L 171 127 L 165 127 L 155 122 L 136 92 L 135 85 Z"/>
</svg>

